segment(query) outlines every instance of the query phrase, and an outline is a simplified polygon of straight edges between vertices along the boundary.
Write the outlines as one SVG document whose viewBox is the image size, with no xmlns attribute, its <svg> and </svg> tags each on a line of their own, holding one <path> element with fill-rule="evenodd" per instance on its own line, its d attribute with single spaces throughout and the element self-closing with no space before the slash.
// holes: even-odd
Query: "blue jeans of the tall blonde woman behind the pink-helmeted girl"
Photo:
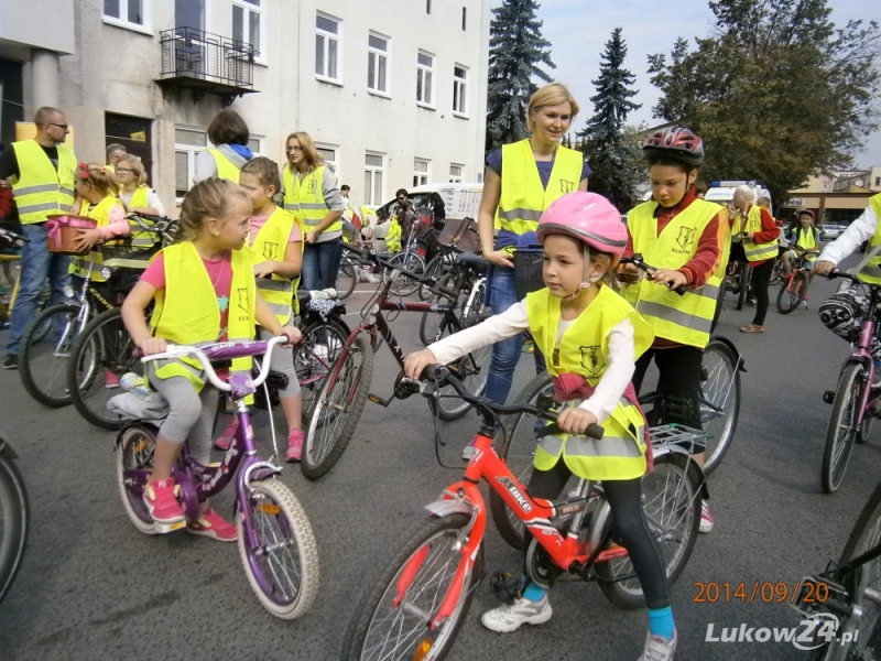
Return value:
<svg viewBox="0 0 881 661">
<path fill-rule="evenodd" d="M 492 270 L 489 285 L 489 303 L 492 314 L 500 314 L 518 303 L 514 288 L 514 270 L 497 267 Z M 523 334 L 518 333 L 492 345 L 492 360 L 487 372 L 487 398 L 503 404 L 511 392 L 514 369 L 523 349 Z M 535 347 L 535 373 L 545 370 L 544 356 Z"/>
</svg>

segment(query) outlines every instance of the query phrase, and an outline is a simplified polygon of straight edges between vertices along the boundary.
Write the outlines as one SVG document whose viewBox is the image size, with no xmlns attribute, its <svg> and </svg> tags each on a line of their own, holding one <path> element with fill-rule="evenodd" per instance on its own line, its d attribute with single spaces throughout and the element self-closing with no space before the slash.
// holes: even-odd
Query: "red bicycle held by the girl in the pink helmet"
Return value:
<svg viewBox="0 0 881 661">
<path fill-rule="evenodd" d="M 452 386 L 456 397 L 479 412 L 531 413 L 552 424 L 536 435 L 563 433 L 553 421 L 553 401 L 544 405 L 500 405 L 469 393 L 449 370 L 426 369 L 428 381 L 404 381 L 410 393 L 438 397 Z M 703 474 L 690 458 L 694 434 L 676 425 L 653 430 L 654 469 L 643 478 L 645 519 L 664 553 L 667 579 L 682 573 L 694 549 L 700 519 Z M 587 435 L 602 437 L 591 425 Z M 349 622 L 341 658 L 437 660 L 449 652 L 465 621 L 475 589 L 483 575 L 483 533 L 487 507 L 480 478 L 498 494 L 532 532 L 526 575 L 550 587 L 564 572 L 598 581 L 616 605 L 644 605 L 642 589 L 624 548 L 616 542 L 609 503 L 599 483 L 581 480 L 577 496 L 561 502 L 532 498 L 492 447 L 492 427 L 481 429 L 477 452 L 461 481 L 448 486 L 440 499 L 426 506 L 427 519 L 398 546 L 392 560 L 362 593 Z M 498 581 L 499 592 L 504 592 Z"/>
</svg>

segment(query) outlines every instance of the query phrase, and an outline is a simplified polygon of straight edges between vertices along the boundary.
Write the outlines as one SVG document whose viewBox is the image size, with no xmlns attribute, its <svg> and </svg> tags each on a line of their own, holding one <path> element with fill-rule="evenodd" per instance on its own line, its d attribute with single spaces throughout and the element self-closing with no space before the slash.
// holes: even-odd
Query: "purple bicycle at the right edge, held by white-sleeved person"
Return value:
<svg viewBox="0 0 881 661">
<path fill-rule="evenodd" d="M 859 339 L 841 366 L 837 388 L 823 393 L 823 401 L 833 405 L 833 412 L 826 430 L 820 477 L 823 490 L 834 494 L 841 486 L 853 441 L 864 443 L 872 421 L 881 416 L 881 388 L 872 386 L 875 368 L 871 354 L 872 338 L 881 316 L 878 310 L 881 285 L 861 282 L 856 275 L 837 270 L 829 273 L 829 278 L 844 278 L 866 288 L 870 311 L 862 319 Z"/>
</svg>

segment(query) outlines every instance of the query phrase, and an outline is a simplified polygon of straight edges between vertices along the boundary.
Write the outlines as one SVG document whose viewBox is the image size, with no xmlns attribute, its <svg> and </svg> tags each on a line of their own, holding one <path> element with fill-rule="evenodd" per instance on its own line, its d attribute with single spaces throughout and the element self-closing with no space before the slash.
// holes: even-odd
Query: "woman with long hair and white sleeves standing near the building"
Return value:
<svg viewBox="0 0 881 661">
<path fill-rule="evenodd" d="M 322 290 L 337 281 L 342 257 L 342 212 L 346 201 L 334 171 L 326 166 L 312 137 L 291 133 L 284 148 L 282 172 L 284 208 L 303 221 L 306 230 L 301 289 Z"/>
</svg>

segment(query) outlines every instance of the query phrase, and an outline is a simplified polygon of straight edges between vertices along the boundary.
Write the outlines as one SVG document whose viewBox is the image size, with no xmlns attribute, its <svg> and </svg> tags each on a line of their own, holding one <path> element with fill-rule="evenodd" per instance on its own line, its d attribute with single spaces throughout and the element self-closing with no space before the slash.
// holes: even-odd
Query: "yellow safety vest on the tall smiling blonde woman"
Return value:
<svg viewBox="0 0 881 661">
<path fill-rule="evenodd" d="M 578 189 L 584 160 L 581 152 L 557 147 L 551 178 L 543 187 L 529 139 L 502 145 L 500 228 L 516 235 L 535 231 L 539 218 L 552 202 Z"/>
</svg>

